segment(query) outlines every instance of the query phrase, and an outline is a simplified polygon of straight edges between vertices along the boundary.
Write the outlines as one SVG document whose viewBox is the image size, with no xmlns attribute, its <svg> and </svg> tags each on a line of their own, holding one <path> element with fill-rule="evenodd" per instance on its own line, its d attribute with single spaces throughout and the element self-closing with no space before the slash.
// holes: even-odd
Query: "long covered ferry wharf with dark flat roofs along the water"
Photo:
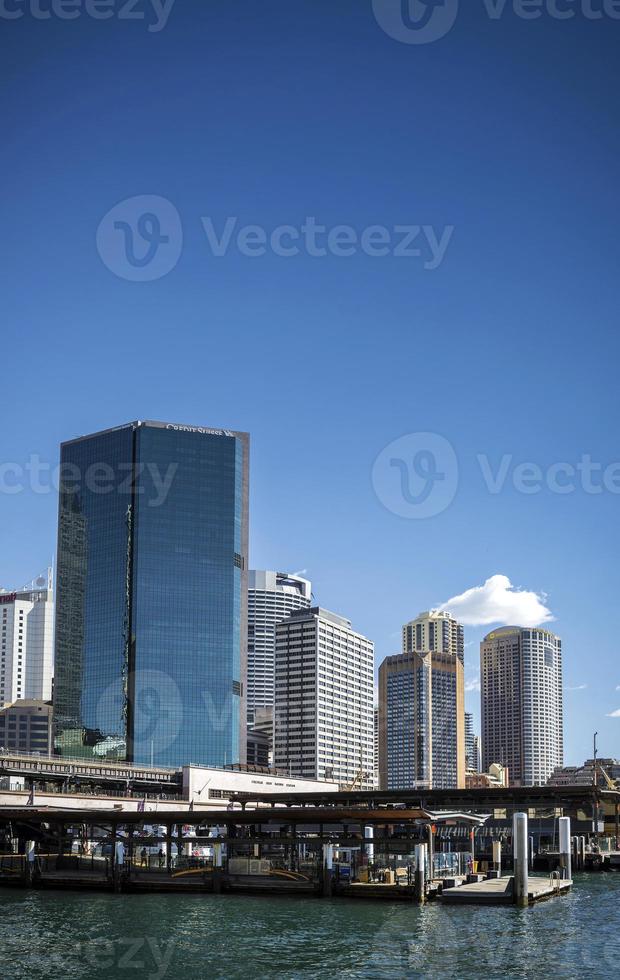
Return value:
<svg viewBox="0 0 620 980">
<path fill-rule="evenodd" d="M 418 902 L 432 901 L 442 890 L 465 897 L 472 894 L 467 889 L 475 889 L 473 894 L 482 900 L 486 895 L 491 901 L 507 898 L 527 905 L 570 887 L 573 863 L 579 868 L 585 860 L 588 869 L 595 860 L 601 867 L 619 866 L 620 854 L 609 850 L 609 841 L 599 847 L 596 839 L 588 838 L 584 857 L 583 837 L 572 842 L 579 855 L 573 862 L 571 823 L 562 818 L 561 853 L 543 854 L 549 871 L 561 863 L 562 874 L 532 878 L 528 816 L 519 810 L 514 815 L 514 881 L 507 884 L 501 878 L 501 864 L 510 868 L 512 855 L 507 843 L 502 853 L 494 831 L 477 831 L 476 840 L 486 836 L 488 844 L 476 847 L 475 873 L 485 873 L 489 866 L 494 870 L 486 872 L 487 881 L 475 880 L 471 861 L 466 860 L 467 842 L 472 827 L 484 827 L 486 815 L 391 805 L 390 799 L 378 802 L 374 795 L 354 794 L 351 803 L 328 805 L 327 800 L 310 798 L 300 805 L 287 798 L 286 805 L 260 800 L 251 807 L 241 800 L 235 807 L 208 814 L 188 808 L 157 814 L 109 807 L 0 808 L 0 882 L 121 892 L 289 890 Z M 558 840 L 557 818 L 554 829 L 552 846 Z M 510 840 L 508 828 L 502 840 Z M 540 854 L 537 861 L 540 867 Z"/>
</svg>

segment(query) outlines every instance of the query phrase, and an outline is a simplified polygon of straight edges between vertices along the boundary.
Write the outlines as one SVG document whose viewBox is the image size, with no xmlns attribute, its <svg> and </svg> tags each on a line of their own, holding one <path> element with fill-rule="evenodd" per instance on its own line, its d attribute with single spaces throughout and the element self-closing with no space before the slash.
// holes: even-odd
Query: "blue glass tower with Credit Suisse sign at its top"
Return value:
<svg viewBox="0 0 620 980">
<path fill-rule="evenodd" d="M 245 761 L 248 453 L 162 422 L 62 445 L 56 752 Z"/>
</svg>

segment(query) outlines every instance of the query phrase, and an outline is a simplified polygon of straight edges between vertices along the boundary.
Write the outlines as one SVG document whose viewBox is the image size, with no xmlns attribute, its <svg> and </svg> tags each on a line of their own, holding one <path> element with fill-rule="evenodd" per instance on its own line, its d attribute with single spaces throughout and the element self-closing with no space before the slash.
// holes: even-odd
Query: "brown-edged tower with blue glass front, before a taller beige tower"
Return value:
<svg viewBox="0 0 620 980">
<path fill-rule="evenodd" d="M 465 785 L 463 664 L 450 653 L 406 652 L 379 668 L 382 789 Z"/>
</svg>

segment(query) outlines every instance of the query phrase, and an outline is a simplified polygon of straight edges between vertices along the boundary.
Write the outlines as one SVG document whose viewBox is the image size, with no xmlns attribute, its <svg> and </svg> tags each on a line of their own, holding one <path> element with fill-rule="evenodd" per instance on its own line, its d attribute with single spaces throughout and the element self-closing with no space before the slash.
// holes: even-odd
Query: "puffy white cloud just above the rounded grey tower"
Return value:
<svg viewBox="0 0 620 980">
<path fill-rule="evenodd" d="M 492 575 L 484 585 L 453 596 L 440 608 L 465 626 L 540 626 L 555 618 L 546 599 L 544 593 L 516 588 L 506 575 Z"/>
</svg>

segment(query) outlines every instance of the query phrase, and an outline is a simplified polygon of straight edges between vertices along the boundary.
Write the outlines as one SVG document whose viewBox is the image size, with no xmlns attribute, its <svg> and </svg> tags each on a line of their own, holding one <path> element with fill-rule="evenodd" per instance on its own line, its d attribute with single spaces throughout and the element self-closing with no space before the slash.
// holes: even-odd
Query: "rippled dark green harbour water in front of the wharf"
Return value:
<svg viewBox="0 0 620 980">
<path fill-rule="evenodd" d="M 0 889 L 2 980 L 620 975 L 620 874 L 533 908 Z"/>
</svg>

